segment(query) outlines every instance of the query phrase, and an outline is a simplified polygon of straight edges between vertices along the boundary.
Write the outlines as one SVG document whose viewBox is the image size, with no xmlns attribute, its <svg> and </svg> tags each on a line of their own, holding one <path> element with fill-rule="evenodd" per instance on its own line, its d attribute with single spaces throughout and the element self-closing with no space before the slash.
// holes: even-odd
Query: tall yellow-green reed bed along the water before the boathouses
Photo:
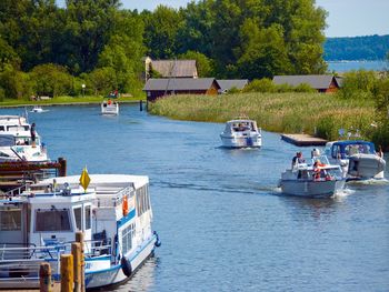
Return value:
<svg viewBox="0 0 389 292">
<path fill-rule="evenodd" d="M 255 119 L 267 131 L 310 133 L 335 140 L 338 130 L 359 129 L 372 135 L 375 105 L 371 100 L 343 100 L 321 93 L 238 93 L 176 95 L 149 104 L 152 114 L 177 120 L 226 122 L 238 115 Z"/>
</svg>

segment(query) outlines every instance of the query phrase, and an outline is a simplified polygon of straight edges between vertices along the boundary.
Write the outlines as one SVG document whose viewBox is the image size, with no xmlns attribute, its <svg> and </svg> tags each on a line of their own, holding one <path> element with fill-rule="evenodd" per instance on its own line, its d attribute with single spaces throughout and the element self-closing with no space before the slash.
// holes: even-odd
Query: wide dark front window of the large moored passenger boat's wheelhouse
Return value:
<svg viewBox="0 0 389 292">
<path fill-rule="evenodd" d="M 44 231 L 71 231 L 69 210 L 37 210 L 36 232 Z"/>
</svg>

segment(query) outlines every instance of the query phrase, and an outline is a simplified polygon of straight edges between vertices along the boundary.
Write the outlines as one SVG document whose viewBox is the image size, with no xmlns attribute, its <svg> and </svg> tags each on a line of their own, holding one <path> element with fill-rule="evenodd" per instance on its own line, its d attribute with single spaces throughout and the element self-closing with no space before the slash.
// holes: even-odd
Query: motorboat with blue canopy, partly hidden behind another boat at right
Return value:
<svg viewBox="0 0 389 292">
<path fill-rule="evenodd" d="M 333 141 L 326 144 L 331 163 L 342 168 L 348 180 L 383 179 L 386 161 L 376 153 L 372 142 L 361 140 Z"/>
</svg>

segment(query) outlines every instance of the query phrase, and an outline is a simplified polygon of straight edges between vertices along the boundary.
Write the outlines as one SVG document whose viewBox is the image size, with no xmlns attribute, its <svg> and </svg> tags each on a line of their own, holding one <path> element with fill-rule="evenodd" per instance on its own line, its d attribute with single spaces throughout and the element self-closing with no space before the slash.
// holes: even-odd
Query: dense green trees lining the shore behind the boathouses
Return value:
<svg viewBox="0 0 389 292">
<path fill-rule="evenodd" d="M 201 77 L 322 73 L 326 11 L 315 0 L 0 1 L 0 98 L 139 92 L 142 58 L 196 59 Z"/>
</svg>

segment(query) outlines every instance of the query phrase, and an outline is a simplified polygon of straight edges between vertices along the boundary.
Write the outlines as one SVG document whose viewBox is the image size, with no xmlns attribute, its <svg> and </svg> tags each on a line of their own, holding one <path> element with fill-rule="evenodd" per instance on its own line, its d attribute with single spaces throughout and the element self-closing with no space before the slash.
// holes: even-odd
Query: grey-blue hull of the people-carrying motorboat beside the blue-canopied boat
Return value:
<svg viewBox="0 0 389 292">
<path fill-rule="evenodd" d="M 345 188 L 345 180 L 297 181 L 281 180 L 282 193 L 307 198 L 329 198 Z"/>
</svg>

